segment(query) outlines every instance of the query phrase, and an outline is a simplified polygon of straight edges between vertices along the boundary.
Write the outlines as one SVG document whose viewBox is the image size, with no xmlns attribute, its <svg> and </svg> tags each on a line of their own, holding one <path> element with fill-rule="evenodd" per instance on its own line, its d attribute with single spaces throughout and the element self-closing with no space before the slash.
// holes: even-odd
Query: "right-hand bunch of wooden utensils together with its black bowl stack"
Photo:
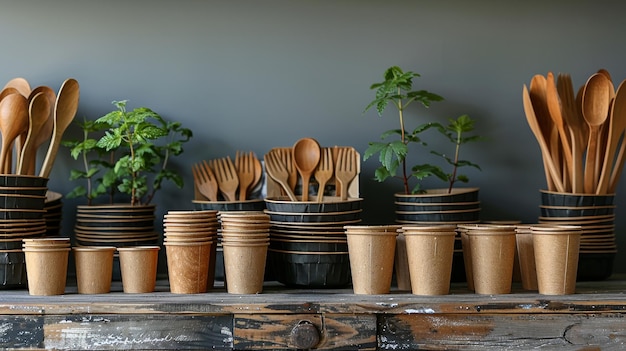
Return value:
<svg viewBox="0 0 626 351">
<path fill-rule="evenodd" d="M 542 201 L 540 217 L 540 222 L 583 226 L 580 280 L 611 275 L 616 253 L 613 204 L 577 201 L 615 194 L 626 160 L 625 82 L 616 89 L 609 72 L 600 69 L 575 93 L 568 74 L 548 72 L 533 76 L 523 88 L 524 112 L 546 175 L 542 200 L 546 193 L 580 197 L 573 205 Z"/>
</svg>

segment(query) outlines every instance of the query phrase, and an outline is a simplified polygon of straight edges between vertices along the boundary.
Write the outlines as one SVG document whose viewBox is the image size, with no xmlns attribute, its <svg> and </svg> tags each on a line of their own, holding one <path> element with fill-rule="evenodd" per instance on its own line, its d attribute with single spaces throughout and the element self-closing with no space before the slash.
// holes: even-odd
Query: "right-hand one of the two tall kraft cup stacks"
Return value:
<svg viewBox="0 0 626 351">
<path fill-rule="evenodd" d="M 270 217 L 261 211 L 221 211 L 226 289 L 232 294 L 263 290 Z"/>
</svg>

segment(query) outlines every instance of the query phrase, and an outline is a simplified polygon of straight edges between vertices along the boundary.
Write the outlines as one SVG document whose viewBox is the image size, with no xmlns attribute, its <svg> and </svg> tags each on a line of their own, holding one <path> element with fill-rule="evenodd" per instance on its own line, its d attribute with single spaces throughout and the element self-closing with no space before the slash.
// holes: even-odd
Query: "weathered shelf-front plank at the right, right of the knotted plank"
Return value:
<svg viewBox="0 0 626 351">
<path fill-rule="evenodd" d="M 623 350 L 622 314 L 380 315 L 381 350 Z"/>
</svg>

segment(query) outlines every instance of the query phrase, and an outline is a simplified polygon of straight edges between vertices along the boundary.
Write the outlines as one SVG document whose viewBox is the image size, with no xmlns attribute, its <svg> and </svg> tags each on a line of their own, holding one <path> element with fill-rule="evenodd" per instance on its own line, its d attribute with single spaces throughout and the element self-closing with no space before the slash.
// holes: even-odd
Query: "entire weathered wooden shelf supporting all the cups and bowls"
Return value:
<svg viewBox="0 0 626 351">
<path fill-rule="evenodd" d="M 223 287 L 197 295 L 113 292 L 59 296 L 0 291 L 2 349 L 550 350 L 621 349 L 626 280 L 580 282 L 576 294 L 477 295 L 453 284 L 445 296 L 355 295 L 288 289 L 258 295 Z"/>
</svg>

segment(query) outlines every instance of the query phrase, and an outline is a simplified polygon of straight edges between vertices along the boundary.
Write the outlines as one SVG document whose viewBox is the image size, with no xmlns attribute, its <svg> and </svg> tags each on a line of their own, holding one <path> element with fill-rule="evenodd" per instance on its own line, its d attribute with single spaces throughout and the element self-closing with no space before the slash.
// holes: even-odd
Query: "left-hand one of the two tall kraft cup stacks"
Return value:
<svg viewBox="0 0 626 351">
<path fill-rule="evenodd" d="M 170 290 L 203 293 L 213 288 L 217 211 L 168 211 L 163 230 Z"/>
</svg>

